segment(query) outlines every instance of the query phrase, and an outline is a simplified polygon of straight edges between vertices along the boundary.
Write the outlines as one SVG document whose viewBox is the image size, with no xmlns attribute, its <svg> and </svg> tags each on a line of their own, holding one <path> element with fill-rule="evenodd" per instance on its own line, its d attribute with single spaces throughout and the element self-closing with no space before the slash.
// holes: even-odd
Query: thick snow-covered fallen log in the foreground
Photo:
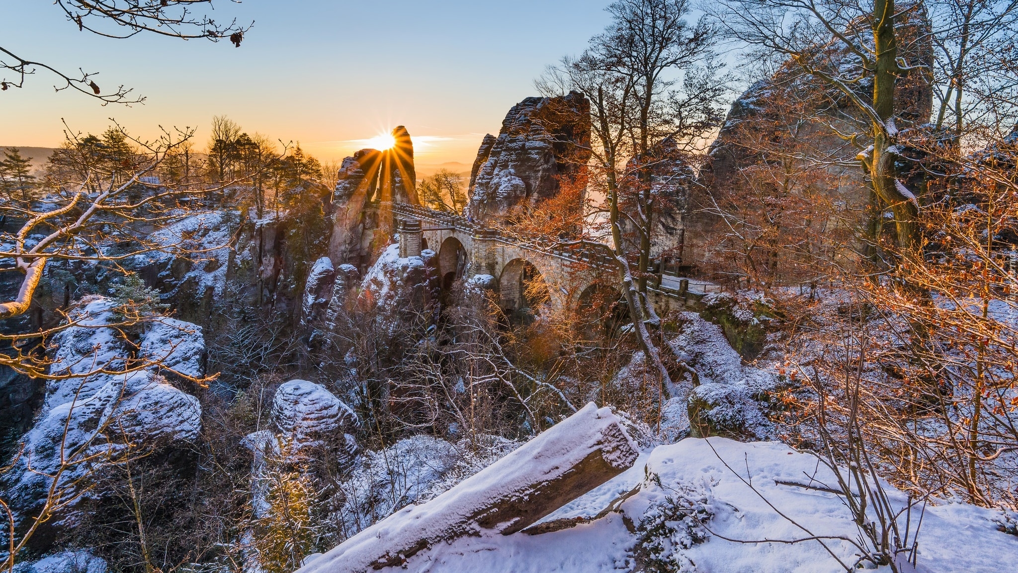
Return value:
<svg viewBox="0 0 1018 573">
<path fill-rule="evenodd" d="M 587 404 L 459 485 L 400 510 L 299 571 L 365 572 L 463 535 L 515 533 L 618 475 L 636 457 L 611 410 Z"/>
</svg>

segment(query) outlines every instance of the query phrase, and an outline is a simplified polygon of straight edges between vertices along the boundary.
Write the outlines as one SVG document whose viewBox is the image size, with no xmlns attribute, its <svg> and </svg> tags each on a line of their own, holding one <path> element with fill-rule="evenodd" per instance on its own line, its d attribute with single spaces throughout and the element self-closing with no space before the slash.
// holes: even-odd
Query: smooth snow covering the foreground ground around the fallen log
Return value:
<svg viewBox="0 0 1018 573">
<path fill-rule="evenodd" d="M 817 482 L 834 483 L 830 471 L 812 455 L 798 453 L 778 442 L 687 438 L 675 445 L 660 446 L 651 455 L 642 456 L 639 462 L 599 488 L 603 489 L 601 493 L 591 492 L 577 500 L 588 502 L 587 508 L 560 513 L 563 517 L 589 516 L 600 511 L 595 508 L 604 504 L 610 492 L 622 491 L 630 483 L 638 485 L 635 494 L 618 504 L 621 515 L 610 512 L 589 523 L 541 535 L 522 532 L 501 535 L 478 530 L 425 550 L 410 557 L 402 568 L 397 566 L 381 571 L 607 573 L 631 570 L 637 550 L 662 548 L 664 551 L 658 556 L 664 556 L 676 571 L 844 571 L 818 541 L 775 542 L 809 536 L 793 524 L 793 520 L 816 535 L 853 540 L 858 537 L 856 525 L 839 496 L 805 487 Z M 746 481 L 751 478 L 752 488 L 740 480 L 736 472 Z M 814 478 L 812 483 L 810 476 Z M 885 487 L 889 488 L 892 502 L 898 507 L 906 503 L 904 493 L 887 484 Z M 404 510 L 400 515 L 420 514 L 429 506 L 431 504 Z M 668 535 L 649 537 L 647 529 L 662 524 L 661 516 L 669 507 L 692 508 L 697 512 L 683 520 L 664 520 Z M 912 532 L 917 525 L 918 511 L 917 508 L 912 513 Z M 623 515 L 636 526 L 636 531 L 627 529 Z M 999 513 L 992 510 L 935 500 L 925 509 L 918 534 L 918 571 L 1013 570 L 1018 560 L 1018 537 L 998 531 L 995 519 L 999 519 Z M 899 518 L 902 526 L 904 520 L 904 515 Z M 377 540 L 374 533 L 384 534 L 375 528 L 364 533 L 369 532 L 373 533 L 372 538 L 363 537 L 367 542 Z M 842 539 L 825 542 L 842 561 L 850 566 L 855 563 L 858 552 L 853 545 Z M 335 552 L 317 559 L 301 571 L 339 573 L 328 567 L 330 555 Z M 694 569 L 679 569 L 680 563 L 695 564 Z M 890 568 L 883 567 L 880 571 L 887 573 Z"/>
</svg>

